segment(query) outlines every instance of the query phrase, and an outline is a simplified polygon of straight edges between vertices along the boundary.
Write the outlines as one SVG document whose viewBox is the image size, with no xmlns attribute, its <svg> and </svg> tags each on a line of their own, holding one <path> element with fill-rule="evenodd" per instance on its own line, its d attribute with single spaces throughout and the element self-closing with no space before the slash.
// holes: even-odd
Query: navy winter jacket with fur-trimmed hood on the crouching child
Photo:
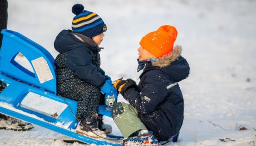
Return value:
<svg viewBox="0 0 256 146">
<path fill-rule="evenodd" d="M 156 62 L 146 61 L 138 86 L 125 87 L 121 94 L 138 111 L 147 129 L 160 141 L 179 133 L 183 124 L 184 100 L 178 82 L 190 73 L 180 56 L 181 46 Z"/>
</svg>

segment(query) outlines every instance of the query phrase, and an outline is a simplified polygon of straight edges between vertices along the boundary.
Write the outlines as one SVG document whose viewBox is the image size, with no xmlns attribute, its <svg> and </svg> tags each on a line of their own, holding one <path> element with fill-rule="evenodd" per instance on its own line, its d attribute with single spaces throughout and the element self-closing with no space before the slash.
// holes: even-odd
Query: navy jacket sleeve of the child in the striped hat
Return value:
<svg viewBox="0 0 256 146">
<path fill-rule="evenodd" d="M 67 55 L 67 66 L 80 79 L 100 87 L 105 83 L 105 76 L 92 64 L 92 57 L 83 48 L 71 50 Z"/>
</svg>

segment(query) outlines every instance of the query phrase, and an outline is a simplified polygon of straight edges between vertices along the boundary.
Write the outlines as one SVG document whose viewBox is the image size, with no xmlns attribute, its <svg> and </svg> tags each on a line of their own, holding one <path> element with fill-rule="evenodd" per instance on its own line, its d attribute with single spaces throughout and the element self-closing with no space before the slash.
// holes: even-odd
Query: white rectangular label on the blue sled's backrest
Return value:
<svg viewBox="0 0 256 146">
<path fill-rule="evenodd" d="M 36 70 L 36 74 L 41 84 L 53 79 L 50 67 L 48 66 L 47 61 L 43 57 L 34 59 L 31 62 Z"/>
</svg>

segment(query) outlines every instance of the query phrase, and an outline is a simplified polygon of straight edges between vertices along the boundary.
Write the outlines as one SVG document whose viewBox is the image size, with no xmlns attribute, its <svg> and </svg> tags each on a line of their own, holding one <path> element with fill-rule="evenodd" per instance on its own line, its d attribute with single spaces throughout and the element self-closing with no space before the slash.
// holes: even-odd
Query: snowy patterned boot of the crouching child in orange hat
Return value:
<svg viewBox="0 0 256 146">
<path fill-rule="evenodd" d="M 155 138 L 151 131 L 141 130 L 137 136 L 125 138 L 122 145 L 159 145 L 159 141 Z"/>
</svg>

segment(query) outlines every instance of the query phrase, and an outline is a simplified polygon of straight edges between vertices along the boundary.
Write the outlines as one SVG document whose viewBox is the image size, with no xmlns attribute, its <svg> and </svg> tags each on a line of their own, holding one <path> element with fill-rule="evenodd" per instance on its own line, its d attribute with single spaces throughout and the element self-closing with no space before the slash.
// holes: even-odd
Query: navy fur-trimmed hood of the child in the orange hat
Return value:
<svg viewBox="0 0 256 146">
<path fill-rule="evenodd" d="M 186 79 L 190 74 L 190 67 L 186 59 L 181 56 L 181 51 L 181 46 L 176 45 L 171 53 L 164 55 L 159 60 L 147 61 L 140 78 L 147 71 L 161 70 L 177 82 Z"/>
</svg>

